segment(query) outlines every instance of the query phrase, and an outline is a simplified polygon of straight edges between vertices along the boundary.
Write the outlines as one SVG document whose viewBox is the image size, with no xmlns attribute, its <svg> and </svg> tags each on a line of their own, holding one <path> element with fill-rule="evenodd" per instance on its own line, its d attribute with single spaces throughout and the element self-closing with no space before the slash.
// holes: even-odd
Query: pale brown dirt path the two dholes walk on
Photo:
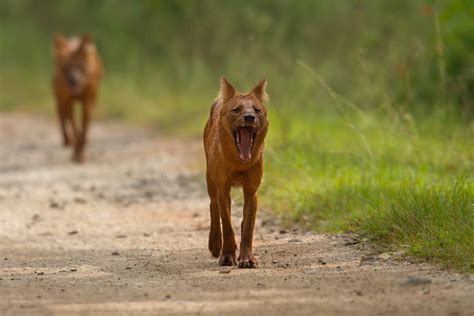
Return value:
<svg viewBox="0 0 474 316">
<path fill-rule="evenodd" d="M 101 123 L 83 166 L 59 143 L 53 120 L 0 114 L 0 315 L 474 309 L 472 277 L 368 256 L 348 235 L 280 231 L 271 219 L 257 225 L 259 269 L 219 269 L 206 249 L 200 143 Z"/>
</svg>

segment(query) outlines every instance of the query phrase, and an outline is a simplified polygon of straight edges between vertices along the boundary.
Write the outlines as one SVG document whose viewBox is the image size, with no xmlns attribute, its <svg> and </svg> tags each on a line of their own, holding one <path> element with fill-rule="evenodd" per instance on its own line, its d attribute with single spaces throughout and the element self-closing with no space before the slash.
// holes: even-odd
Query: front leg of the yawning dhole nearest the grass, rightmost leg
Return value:
<svg viewBox="0 0 474 316">
<path fill-rule="evenodd" d="M 239 268 L 256 268 L 258 266 L 257 260 L 252 253 L 257 203 L 257 192 L 244 189 L 244 218 L 241 225 L 242 236 L 240 240 Z"/>
</svg>

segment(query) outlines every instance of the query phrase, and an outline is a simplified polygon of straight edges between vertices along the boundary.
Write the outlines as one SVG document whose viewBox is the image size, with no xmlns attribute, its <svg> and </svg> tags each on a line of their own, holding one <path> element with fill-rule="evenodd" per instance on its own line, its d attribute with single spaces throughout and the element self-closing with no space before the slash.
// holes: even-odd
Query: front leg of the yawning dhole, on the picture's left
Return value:
<svg viewBox="0 0 474 316">
<path fill-rule="evenodd" d="M 230 218 L 230 187 L 225 188 L 222 191 L 218 190 L 218 203 L 219 214 L 222 221 L 222 234 L 224 237 L 219 265 L 233 266 L 237 264 L 235 261 L 235 250 L 237 249 L 237 245 L 235 244 L 234 230 L 232 229 Z"/>
</svg>

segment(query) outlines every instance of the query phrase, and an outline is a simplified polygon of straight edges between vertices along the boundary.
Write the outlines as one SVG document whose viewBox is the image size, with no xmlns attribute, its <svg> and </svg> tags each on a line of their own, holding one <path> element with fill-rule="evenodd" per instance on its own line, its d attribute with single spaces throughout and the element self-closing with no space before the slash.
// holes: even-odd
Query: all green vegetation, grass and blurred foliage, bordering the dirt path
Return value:
<svg viewBox="0 0 474 316">
<path fill-rule="evenodd" d="M 198 137 L 221 75 L 266 78 L 264 209 L 473 269 L 474 2 L 2 0 L 0 109 L 53 115 L 52 36 L 86 31 L 96 117 Z"/>
</svg>

